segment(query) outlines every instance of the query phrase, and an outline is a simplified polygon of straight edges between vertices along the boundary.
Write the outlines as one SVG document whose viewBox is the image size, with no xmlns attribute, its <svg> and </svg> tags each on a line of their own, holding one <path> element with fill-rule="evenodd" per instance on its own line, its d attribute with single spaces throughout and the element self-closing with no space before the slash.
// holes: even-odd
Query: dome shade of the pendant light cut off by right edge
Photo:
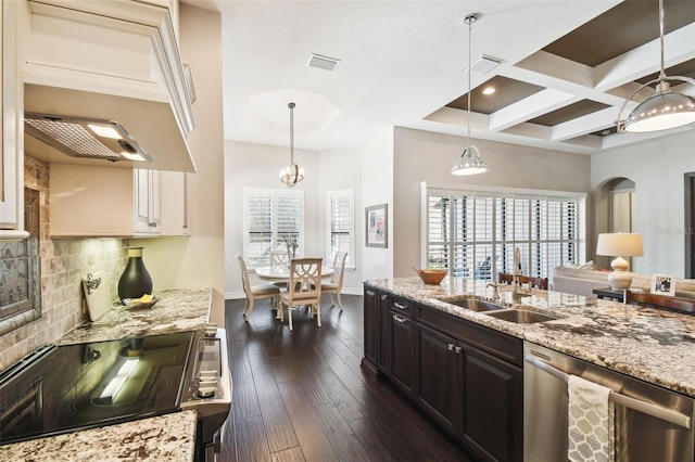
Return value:
<svg viewBox="0 0 695 462">
<path fill-rule="evenodd" d="M 624 131 L 643 133 L 668 130 L 695 123 L 695 99 L 670 91 L 666 81 L 657 86 L 657 93 L 637 105 L 623 123 Z"/>
</svg>

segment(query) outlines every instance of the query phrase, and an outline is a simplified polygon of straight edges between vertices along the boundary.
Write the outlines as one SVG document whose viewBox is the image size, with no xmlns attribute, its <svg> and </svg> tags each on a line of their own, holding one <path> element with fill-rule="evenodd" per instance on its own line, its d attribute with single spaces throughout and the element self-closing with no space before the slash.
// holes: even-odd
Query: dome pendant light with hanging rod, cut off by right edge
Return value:
<svg viewBox="0 0 695 462">
<path fill-rule="evenodd" d="M 695 99 L 671 91 L 671 82 L 683 81 L 695 85 L 688 77 L 667 77 L 664 70 L 664 0 L 659 0 L 659 39 L 661 46 L 661 70 L 659 77 L 644 84 L 622 103 L 618 113 L 618 131 L 643 133 L 668 130 L 695 123 Z M 644 100 L 623 121 L 622 111 L 635 94 L 656 84 L 656 94 Z"/>
</svg>

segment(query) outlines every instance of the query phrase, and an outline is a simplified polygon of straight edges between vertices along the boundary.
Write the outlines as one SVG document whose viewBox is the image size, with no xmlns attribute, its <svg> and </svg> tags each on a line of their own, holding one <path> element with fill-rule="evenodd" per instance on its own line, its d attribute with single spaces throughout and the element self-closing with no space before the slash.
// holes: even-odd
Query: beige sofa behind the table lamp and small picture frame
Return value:
<svg viewBox="0 0 695 462">
<path fill-rule="evenodd" d="M 549 288 L 555 292 L 595 297 L 594 288 L 608 287 L 608 273 L 611 270 L 597 268 L 592 261 L 582 266 L 560 266 L 553 272 Z M 675 283 L 675 296 L 695 298 L 695 280 L 673 278 Z M 632 290 L 649 292 L 652 284 L 650 274 L 632 273 Z"/>
</svg>

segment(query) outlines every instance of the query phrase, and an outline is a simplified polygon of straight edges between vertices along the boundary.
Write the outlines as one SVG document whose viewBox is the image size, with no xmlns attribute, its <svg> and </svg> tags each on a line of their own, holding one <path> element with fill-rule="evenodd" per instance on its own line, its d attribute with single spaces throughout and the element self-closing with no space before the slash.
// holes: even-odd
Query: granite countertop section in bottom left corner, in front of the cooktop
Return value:
<svg viewBox="0 0 695 462">
<path fill-rule="evenodd" d="M 141 419 L 66 435 L 0 446 L 3 461 L 190 462 L 195 450 L 193 410 Z"/>
</svg>

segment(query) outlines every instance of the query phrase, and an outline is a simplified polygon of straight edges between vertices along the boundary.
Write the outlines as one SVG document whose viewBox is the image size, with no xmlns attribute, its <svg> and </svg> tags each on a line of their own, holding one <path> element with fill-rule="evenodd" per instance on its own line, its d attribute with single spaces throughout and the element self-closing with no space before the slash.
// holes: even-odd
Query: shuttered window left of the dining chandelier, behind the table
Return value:
<svg viewBox="0 0 695 462">
<path fill-rule="evenodd" d="M 269 265 L 270 251 L 286 251 L 294 240 L 304 248 L 304 191 L 243 189 L 243 256 L 249 268 Z"/>
</svg>

